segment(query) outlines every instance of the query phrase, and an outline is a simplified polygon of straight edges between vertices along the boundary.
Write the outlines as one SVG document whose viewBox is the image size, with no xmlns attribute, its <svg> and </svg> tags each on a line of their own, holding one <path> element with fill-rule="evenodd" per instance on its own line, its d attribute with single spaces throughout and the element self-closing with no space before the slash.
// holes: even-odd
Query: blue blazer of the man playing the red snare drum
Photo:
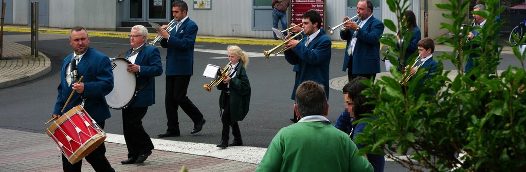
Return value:
<svg viewBox="0 0 526 172">
<path fill-rule="evenodd" d="M 71 85 L 66 82 L 66 66 L 71 62 L 73 53 L 68 55 L 62 61 L 62 69 L 60 70 L 60 84 L 58 85 L 58 96 L 55 103 L 53 114 L 64 114 L 69 109 L 80 105 L 82 99 L 85 98 L 84 109 L 91 116 L 95 122 L 103 122 L 105 119 L 111 117 L 106 103 L 106 96 L 113 89 L 113 71 L 112 65 L 108 56 L 97 52 L 97 50 L 88 47 L 86 53 L 77 64 L 78 76 L 84 76 L 82 83 L 84 83 L 84 93 L 74 93 L 69 100 L 68 105 L 63 113 L 60 110 L 66 103 L 69 94 L 72 92 Z"/>
</svg>

